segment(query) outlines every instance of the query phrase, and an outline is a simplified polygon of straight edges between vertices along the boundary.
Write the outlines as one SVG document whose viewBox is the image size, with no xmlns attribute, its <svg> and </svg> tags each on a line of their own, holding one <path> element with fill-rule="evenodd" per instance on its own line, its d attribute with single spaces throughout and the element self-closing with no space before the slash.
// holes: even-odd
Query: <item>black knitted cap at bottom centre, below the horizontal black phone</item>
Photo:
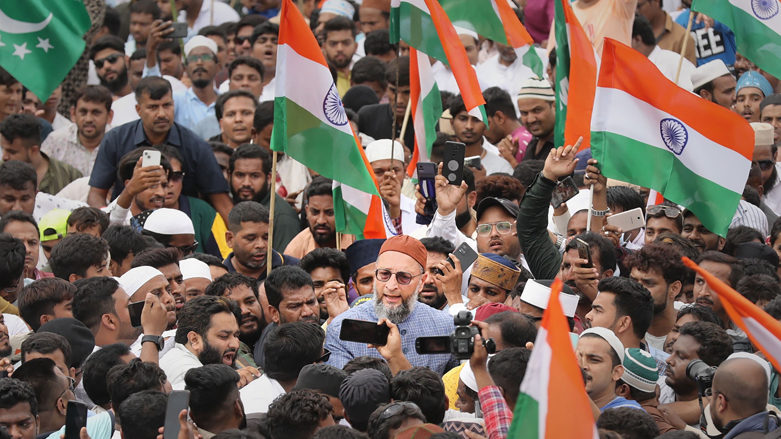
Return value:
<svg viewBox="0 0 781 439">
<path fill-rule="evenodd" d="M 350 422 L 365 423 L 377 407 L 391 402 L 391 385 L 379 370 L 361 369 L 342 381 L 339 399 Z"/>
</svg>

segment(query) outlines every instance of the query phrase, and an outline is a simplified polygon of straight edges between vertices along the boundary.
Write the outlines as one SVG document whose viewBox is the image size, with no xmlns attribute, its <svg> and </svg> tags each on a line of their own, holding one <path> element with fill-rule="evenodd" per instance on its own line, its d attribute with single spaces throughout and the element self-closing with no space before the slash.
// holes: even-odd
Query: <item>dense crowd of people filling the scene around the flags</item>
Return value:
<svg viewBox="0 0 781 439">
<path fill-rule="evenodd" d="M 781 427 L 779 371 L 682 262 L 781 321 L 781 82 L 722 23 L 694 14 L 686 32 L 690 0 L 572 3 L 597 54 L 603 37 L 631 45 L 751 123 L 751 171 L 719 236 L 604 177 L 589 149 L 555 145 L 554 0 L 508 2 L 544 77 L 454 23 L 487 120 L 432 59 L 430 199 L 407 173 L 418 120 L 391 0 L 295 2 L 375 174 L 386 239 L 337 233 L 333 180 L 284 154 L 272 172 L 279 0 L 84 0 L 87 48 L 51 96 L 0 68 L 0 439 L 64 437 L 69 402 L 88 409 L 81 439 L 162 439 L 167 394 L 183 390 L 179 439 L 502 439 L 539 373 L 527 366 L 556 278 L 600 437 Z M 169 37 L 174 21 L 187 37 Z M 441 175 L 447 141 L 473 165 L 460 185 Z M 568 177 L 578 191 L 552 202 Z M 642 226 L 608 221 L 633 209 Z M 478 333 L 466 355 L 423 353 L 419 337 L 458 318 Z M 355 341 L 355 319 L 384 344 Z"/>
</svg>

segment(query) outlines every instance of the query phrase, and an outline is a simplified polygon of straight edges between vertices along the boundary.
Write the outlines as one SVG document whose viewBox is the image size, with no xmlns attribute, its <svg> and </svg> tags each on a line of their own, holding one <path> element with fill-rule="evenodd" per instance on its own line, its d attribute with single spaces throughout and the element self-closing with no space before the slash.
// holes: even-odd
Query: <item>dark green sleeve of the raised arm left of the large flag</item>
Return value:
<svg viewBox="0 0 781 439">
<path fill-rule="evenodd" d="M 518 209 L 518 241 L 535 279 L 553 279 L 562 265 L 562 254 L 547 233 L 547 212 L 556 182 L 537 174 L 526 188 Z"/>
</svg>

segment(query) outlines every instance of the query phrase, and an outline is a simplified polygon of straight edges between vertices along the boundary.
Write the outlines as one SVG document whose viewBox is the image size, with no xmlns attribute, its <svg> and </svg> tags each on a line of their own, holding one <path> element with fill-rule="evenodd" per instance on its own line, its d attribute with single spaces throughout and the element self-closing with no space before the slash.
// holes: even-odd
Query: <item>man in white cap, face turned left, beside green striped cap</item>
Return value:
<svg viewBox="0 0 781 439">
<path fill-rule="evenodd" d="M 586 375 L 586 393 L 602 412 L 616 407 L 642 410 L 637 402 L 615 394 L 624 373 L 624 345 L 612 330 L 603 327 L 584 330 L 575 355 Z"/>
</svg>

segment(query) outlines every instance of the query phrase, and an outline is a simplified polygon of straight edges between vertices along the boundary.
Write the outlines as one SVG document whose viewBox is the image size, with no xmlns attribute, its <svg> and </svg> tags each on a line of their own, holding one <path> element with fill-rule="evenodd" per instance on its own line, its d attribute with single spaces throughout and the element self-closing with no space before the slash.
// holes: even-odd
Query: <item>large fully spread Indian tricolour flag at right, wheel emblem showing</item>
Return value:
<svg viewBox="0 0 781 439">
<path fill-rule="evenodd" d="M 676 86 L 640 52 L 605 38 L 591 155 L 606 177 L 662 192 L 726 236 L 753 152 L 746 120 Z"/>
</svg>

